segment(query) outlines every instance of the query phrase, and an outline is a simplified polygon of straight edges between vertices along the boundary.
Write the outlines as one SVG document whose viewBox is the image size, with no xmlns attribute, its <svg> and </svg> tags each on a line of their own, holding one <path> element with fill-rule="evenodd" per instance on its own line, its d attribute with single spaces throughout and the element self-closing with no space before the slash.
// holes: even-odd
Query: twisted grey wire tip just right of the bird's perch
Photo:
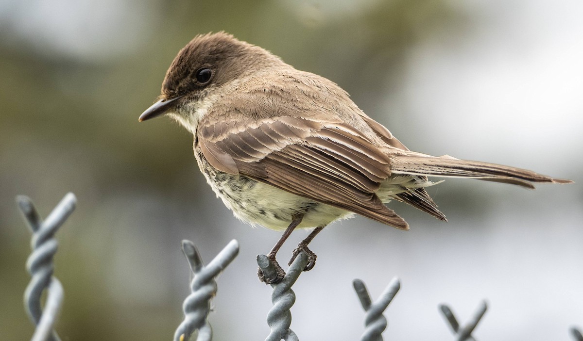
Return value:
<svg viewBox="0 0 583 341">
<path fill-rule="evenodd" d="M 401 282 L 398 278 L 393 278 L 381 296 L 373 303 L 368 294 L 368 290 L 364 282 L 360 279 L 355 279 L 352 282 L 356 296 L 359 297 L 360 304 L 366 311 L 364 318 L 364 333 L 360 336 L 361 341 L 382 341 L 382 332 L 387 328 L 387 319 L 382 315 L 382 312 L 387 309 L 396 293 L 401 288 Z"/>
</svg>

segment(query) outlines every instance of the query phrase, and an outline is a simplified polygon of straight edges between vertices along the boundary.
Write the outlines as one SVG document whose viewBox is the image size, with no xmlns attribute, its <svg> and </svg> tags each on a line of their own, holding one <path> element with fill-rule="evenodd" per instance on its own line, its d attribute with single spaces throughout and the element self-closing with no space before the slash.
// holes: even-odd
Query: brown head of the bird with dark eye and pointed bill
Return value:
<svg viewBox="0 0 583 341">
<path fill-rule="evenodd" d="M 164 114 L 193 133 L 208 106 L 228 95 L 245 77 L 285 65 L 270 52 L 219 32 L 197 35 L 178 52 L 168 68 L 158 100 L 140 115 L 147 120 Z"/>
</svg>

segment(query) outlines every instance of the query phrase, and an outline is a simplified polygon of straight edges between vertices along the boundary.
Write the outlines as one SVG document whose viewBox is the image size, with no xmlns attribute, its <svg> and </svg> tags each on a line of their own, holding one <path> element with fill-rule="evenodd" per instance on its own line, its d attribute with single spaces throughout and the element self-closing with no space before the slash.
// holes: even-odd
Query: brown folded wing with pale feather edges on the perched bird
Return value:
<svg viewBox="0 0 583 341">
<path fill-rule="evenodd" d="M 248 115 L 215 119 L 197 129 L 202 154 L 219 171 L 408 229 L 375 192 L 390 174 L 390 159 L 359 131 L 321 115 Z"/>
</svg>

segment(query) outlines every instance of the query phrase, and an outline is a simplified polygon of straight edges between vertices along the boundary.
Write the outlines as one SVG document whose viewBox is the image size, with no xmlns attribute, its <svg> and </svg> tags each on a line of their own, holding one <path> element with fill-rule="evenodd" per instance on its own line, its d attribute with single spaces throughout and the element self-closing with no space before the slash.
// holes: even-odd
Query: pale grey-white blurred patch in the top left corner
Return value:
<svg viewBox="0 0 583 341">
<path fill-rule="evenodd" d="M 154 1 L 0 0 L 4 44 L 52 58 L 101 62 L 134 52 L 157 22 Z"/>
</svg>

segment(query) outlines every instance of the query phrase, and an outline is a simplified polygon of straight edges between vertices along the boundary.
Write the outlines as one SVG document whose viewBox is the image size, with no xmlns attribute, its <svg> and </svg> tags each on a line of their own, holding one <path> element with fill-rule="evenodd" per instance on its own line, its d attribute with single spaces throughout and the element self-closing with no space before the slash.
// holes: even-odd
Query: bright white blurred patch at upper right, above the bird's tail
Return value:
<svg viewBox="0 0 583 341">
<path fill-rule="evenodd" d="M 469 31 L 413 51 L 403 101 L 435 152 L 478 157 L 479 145 L 500 162 L 581 165 L 583 5 L 563 4 L 457 2 Z"/>
</svg>

